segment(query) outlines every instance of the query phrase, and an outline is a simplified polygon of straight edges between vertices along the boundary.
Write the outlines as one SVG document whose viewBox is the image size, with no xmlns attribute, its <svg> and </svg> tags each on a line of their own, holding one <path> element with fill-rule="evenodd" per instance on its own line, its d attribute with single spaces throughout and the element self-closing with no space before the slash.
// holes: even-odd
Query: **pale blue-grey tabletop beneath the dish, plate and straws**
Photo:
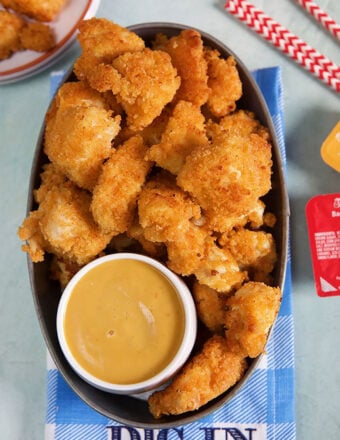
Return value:
<svg viewBox="0 0 340 440">
<path fill-rule="evenodd" d="M 253 3 L 340 63 L 339 43 L 293 0 Z M 339 0 L 318 3 L 340 22 Z M 312 196 L 340 190 L 340 175 L 320 157 L 321 143 L 340 120 L 340 95 L 228 15 L 223 4 L 217 0 L 102 0 L 97 16 L 124 26 L 148 21 L 187 24 L 223 41 L 249 69 L 282 67 L 291 206 L 297 437 L 338 440 L 340 297 L 316 295 L 304 209 Z M 6 440 L 44 438 L 46 348 L 33 306 L 26 256 L 20 250 L 16 231 L 25 217 L 32 157 L 49 104 L 49 75 L 52 70 L 68 68 L 78 54 L 74 44 L 48 70 L 0 86 L 0 438 Z"/>
</svg>

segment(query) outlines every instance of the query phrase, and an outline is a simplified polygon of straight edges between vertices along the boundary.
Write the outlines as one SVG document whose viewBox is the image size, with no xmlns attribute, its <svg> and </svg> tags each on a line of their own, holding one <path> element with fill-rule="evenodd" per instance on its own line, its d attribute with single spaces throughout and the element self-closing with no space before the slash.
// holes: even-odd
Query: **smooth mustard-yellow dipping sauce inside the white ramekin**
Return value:
<svg viewBox="0 0 340 440">
<path fill-rule="evenodd" d="M 184 311 L 176 290 L 156 269 L 141 261 L 113 260 L 76 284 L 64 332 L 87 372 L 110 383 L 136 383 L 174 357 L 184 334 Z"/>
</svg>

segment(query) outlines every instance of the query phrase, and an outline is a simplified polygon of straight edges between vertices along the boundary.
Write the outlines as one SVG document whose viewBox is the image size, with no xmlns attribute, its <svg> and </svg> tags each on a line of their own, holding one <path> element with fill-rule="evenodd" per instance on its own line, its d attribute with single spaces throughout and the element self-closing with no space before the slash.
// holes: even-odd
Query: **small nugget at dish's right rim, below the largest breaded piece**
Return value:
<svg viewBox="0 0 340 440">
<path fill-rule="evenodd" d="M 241 270 L 255 281 L 270 282 L 269 274 L 277 261 L 273 236 L 264 231 L 240 228 L 223 234 L 219 243 L 235 257 Z"/>
</svg>

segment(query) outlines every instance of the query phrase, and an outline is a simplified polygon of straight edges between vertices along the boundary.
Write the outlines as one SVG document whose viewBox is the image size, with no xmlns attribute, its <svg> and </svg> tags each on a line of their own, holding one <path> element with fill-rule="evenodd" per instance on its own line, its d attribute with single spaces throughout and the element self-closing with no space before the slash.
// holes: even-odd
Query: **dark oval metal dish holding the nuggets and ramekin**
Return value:
<svg viewBox="0 0 340 440">
<path fill-rule="evenodd" d="M 175 23 L 143 23 L 129 27 L 130 30 L 142 37 L 146 41 L 146 44 L 148 44 L 157 33 L 161 32 L 171 37 L 177 35 L 181 30 L 189 28 L 188 26 Z M 206 45 L 218 49 L 224 57 L 229 55 L 235 57 L 244 90 L 243 97 L 238 101 L 238 108 L 253 111 L 260 122 L 269 128 L 273 145 L 273 174 L 272 190 L 268 196 L 266 196 L 265 203 L 267 207 L 269 207 L 269 210 L 274 212 L 277 216 L 274 237 L 277 245 L 278 262 L 274 271 L 273 284 L 283 289 L 287 262 L 289 207 L 283 163 L 270 113 L 251 73 L 237 55 L 211 35 L 199 29 L 197 30 L 202 35 Z M 74 80 L 74 76 L 72 71 L 70 71 L 65 75 L 63 82 L 72 80 Z M 47 158 L 43 153 L 44 129 L 45 126 L 43 124 L 32 164 L 27 212 L 36 208 L 33 199 L 33 190 L 39 185 L 42 164 L 47 162 Z M 251 361 L 244 377 L 232 389 L 212 400 L 199 410 L 180 416 L 164 417 L 155 420 L 150 414 L 145 401 L 129 396 L 108 394 L 97 390 L 88 385 L 73 372 L 62 354 L 57 340 L 56 312 L 61 290 L 59 285 L 49 278 L 49 264 L 50 261 L 48 258 L 46 258 L 43 263 L 38 264 L 33 264 L 28 258 L 28 269 L 35 309 L 48 350 L 62 376 L 76 394 L 99 413 L 120 423 L 136 427 L 169 428 L 196 421 L 212 411 L 215 411 L 222 405 L 227 404 L 247 382 L 261 357 Z"/>
</svg>

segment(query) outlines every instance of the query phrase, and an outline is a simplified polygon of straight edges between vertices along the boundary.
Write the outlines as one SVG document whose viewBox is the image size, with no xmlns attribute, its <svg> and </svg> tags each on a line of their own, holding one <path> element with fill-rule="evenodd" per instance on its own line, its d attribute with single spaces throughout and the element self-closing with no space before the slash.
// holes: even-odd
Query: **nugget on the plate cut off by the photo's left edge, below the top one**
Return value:
<svg viewBox="0 0 340 440">
<path fill-rule="evenodd" d="M 22 49 L 20 33 L 25 25 L 25 21 L 17 15 L 0 11 L 0 60 Z"/>
</svg>

